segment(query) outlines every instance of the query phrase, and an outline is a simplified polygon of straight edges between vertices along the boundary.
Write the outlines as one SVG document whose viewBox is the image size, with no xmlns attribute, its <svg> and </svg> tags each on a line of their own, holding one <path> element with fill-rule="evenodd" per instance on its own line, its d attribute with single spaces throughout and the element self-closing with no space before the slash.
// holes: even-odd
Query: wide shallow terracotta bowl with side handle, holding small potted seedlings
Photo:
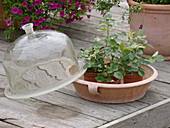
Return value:
<svg viewBox="0 0 170 128">
<path fill-rule="evenodd" d="M 142 66 L 145 70 L 143 80 L 128 84 L 102 84 L 83 79 L 75 81 L 77 94 L 87 100 L 102 103 L 125 103 L 142 98 L 150 83 L 157 77 L 157 71 L 151 66 Z"/>
</svg>

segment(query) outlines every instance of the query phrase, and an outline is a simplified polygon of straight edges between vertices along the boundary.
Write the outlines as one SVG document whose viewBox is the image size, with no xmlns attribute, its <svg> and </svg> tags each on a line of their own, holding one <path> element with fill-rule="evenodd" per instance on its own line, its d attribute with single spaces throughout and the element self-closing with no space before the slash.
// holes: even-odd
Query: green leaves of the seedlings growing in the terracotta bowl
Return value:
<svg viewBox="0 0 170 128">
<path fill-rule="evenodd" d="M 109 31 L 116 23 L 111 14 L 106 14 L 100 21 L 99 28 L 106 32 L 106 37 L 96 37 L 92 47 L 81 49 L 79 54 L 79 57 L 84 59 L 84 68 L 91 68 L 93 73 L 99 73 L 96 79 L 101 82 L 111 82 L 112 76 L 122 79 L 126 74 L 144 76 L 142 65 L 164 60 L 158 52 L 146 58 L 142 57 L 148 46 L 146 36 L 142 35 L 144 29 L 110 34 Z M 120 41 L 118 37 L 124 40 Z"/>
</svg>

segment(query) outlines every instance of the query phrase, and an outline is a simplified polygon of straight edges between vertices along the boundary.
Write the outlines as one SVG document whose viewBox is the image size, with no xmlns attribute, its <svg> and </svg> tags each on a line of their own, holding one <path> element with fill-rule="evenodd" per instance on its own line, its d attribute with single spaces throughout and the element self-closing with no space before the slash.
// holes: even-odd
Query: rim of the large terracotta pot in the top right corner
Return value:
<svg viewBox="0 0 170 128">
<path fill-rule="evenodd" d="M 137 5 L 138 2 L 133 0 L 127 0 L 129 6 Z M 170 5 L 167 4 L 141 4 L 141 6 L 146 10 L 156 10 L 156 11 L 170 11 Z"/>
</svg>

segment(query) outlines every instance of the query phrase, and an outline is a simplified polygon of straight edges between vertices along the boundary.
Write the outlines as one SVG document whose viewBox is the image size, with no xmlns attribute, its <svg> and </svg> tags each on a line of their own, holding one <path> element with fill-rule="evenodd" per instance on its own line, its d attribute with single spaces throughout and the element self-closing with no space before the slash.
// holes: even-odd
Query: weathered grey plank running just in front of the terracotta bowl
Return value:
<svg viewBox="0 0 170 128">
<path fill-rule="evenodd" d="M 127 114 L 126 112 L 104 106 L 101 103 L 90 102 L 60 92 L 51 92 L 43 96 L 38 96 L 36 97 L 36 99 L 50 102 L 52 104 L 57 104 L 59 106 L 61 106 L 62 104 L 69 104 L 74 108 L 69 108 L 66 106 L 65 107 L 66 109 L 71 109 L 74 111 L 79 109 L 81 113 L 85 115 L 96 117 L 98 119 L 103 119 L 103 120 L 116 119 L 123 116 L 124 114 Z"/>
</svg>

